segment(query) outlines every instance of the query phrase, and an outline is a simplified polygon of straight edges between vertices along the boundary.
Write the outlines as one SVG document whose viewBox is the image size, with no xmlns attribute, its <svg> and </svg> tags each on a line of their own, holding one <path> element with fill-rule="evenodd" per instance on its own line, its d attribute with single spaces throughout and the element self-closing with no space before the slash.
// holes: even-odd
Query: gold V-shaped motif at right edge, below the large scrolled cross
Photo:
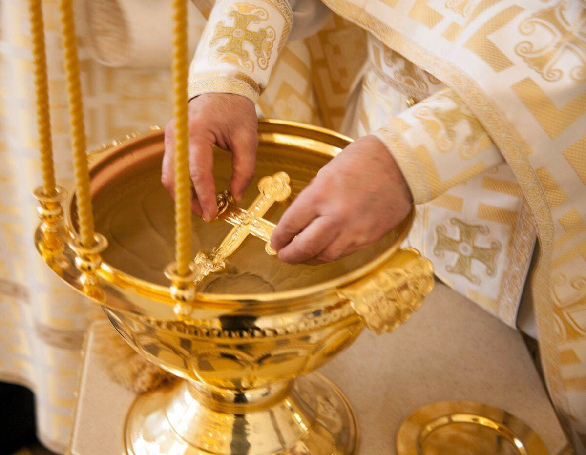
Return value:
<svg viewBox="0 0 586 455">
<path fill-rule="evenodd" d="M 552 139 L 557 138 L 568 126 L 584 115 L 586 91 L 582 91 L 581 95 L 568 102 L 564 107 L 557 108 L 541 87 L 530 77 L 520 80 L 512 88 Z"/>
</svg>

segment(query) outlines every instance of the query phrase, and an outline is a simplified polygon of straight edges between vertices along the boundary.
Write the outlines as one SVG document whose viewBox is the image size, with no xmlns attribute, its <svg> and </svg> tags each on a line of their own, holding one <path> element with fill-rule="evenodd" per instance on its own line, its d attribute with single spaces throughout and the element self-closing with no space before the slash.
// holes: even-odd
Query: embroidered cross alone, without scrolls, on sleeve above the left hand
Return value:
<svg viewBox="0 0 586 455">
<path fill-rule="evenodd" d="M 247 41 L 253 45 L 257 56 L 261 56 L 263 54 L 263 41 L 267 37 L 267 30 L 260 29 L 258 32 L 248 30 L 248 25 L 251 22 L 259 22 L 260 18 L 254 14 L 243 14 L 238 11 L 231 11 L 230 16 L 234 18 L 234 26 L 226 27 L 224 22 L 219 22 L 210 45 L 213 45 L 219 39 L 228 38 L 226 45 L 218 50 L 220 52 L 230 52 L 246 59 L 248 52 L 242 48 L 242 45 Z"/>
</svg>

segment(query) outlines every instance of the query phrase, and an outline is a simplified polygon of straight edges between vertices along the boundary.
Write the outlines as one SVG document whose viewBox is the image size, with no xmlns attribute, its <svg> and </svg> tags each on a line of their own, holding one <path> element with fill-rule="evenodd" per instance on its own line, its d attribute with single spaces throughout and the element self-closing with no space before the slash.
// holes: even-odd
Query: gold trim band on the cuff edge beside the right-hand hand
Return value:
<svg viewBox="0 0 586 455">
<path fill-rule="evenodd" d="M 423 204 L 431 200 L 432 191 L 427 180 L 423 163 L 417 158 L 417 153 L 404 141 L 400 126 L 393 121 L 383 128 L 377 129 L 374 135 L 387 146 L 396 160 L 401 173 L 407 180 L 411 196 L 415 204 Z"/>
</svg>

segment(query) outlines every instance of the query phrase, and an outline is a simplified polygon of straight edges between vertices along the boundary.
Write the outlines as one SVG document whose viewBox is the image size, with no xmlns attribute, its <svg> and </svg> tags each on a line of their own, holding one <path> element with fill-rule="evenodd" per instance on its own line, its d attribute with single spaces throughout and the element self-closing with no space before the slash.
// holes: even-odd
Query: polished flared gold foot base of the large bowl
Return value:
<svg viewBox="0 0 586 455">
<path fill-rule="evenodd" d="M 231 406 L 214 401 L 213 394 L 206 397 L 194 393 L 193 384 L 187 381 L 148 392 L 139 396 L 128 412 L 124 429 L 126 453 L 357 453 L 356 416 L 346 397 L 328 379 L 314 373 L 282 386 L 281 391 L 264 404 L 245 402 Z"/>
</svg>

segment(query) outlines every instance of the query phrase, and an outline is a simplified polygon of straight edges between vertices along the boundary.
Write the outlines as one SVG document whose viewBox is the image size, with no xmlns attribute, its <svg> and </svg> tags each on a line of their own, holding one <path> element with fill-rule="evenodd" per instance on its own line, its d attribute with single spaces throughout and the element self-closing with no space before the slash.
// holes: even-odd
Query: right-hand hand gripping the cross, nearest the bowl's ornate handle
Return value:
<svg viewBox="0 0 586 455">
<path fill-rule="evenodd" d="M 285 262 L 322 264 L 372 245 L 411 210 L 411 193 L 386 146 L 363 136 L 324 166 L 285 211 L 271 246 Z"/>
</svg>

